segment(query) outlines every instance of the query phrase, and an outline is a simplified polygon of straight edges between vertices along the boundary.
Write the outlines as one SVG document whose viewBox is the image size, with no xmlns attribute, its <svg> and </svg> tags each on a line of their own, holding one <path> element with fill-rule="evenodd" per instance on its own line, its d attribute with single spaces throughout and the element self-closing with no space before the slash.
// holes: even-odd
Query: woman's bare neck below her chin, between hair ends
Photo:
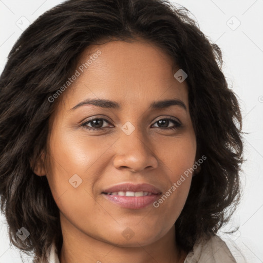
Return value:
<svg viewBox="0 0 263 263">
<path fill-rule="evenodd" d="M 65 218 L 61 223 L 63 235 L 59 253 L 61 263 L 123 263 L 131 258 L 137 263 L 182 263 L 186 257 L 186 253 L 176 244 L 174 226 L 157 241 L 143 246 L 137 242 L 137 245 L 122 247 L 120 243 L 98 240 L 83 233 Z"/>
</svg>

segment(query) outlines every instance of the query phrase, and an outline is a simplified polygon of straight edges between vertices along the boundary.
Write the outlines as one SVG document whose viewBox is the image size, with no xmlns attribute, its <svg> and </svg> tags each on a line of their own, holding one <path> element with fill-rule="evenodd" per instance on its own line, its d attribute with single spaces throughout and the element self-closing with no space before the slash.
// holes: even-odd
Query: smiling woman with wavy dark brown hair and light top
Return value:
<svg viewBox="0 0 263 263">
<path fill-rule="evenodd" d="M 161 0 L 71 0 L 0 79 L 0 194 L 35 262 L 236 262 L 241 114 L 221 51 Z M 48 261 L 49 260 L 49 261 Z"/>
</svg>

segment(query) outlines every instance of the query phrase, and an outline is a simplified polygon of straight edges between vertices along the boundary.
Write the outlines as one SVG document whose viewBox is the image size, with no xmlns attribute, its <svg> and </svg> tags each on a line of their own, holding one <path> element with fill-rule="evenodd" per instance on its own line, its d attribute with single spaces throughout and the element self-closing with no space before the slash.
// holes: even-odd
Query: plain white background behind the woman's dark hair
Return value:
<svg viewBox="0 0 263 263">
<path fill-rule="evenodd" d="M 0 0 L 0 72 L 23 27 L 61 2 Z M 219 45 L 223 53 L 223 72 L 239 97 L 243 132 L 249 133 L 244 138 L 247 162 L 242 166 L 241 204 L 224 228 L 229 231 L 239 226 L 239 231 L 233 237 L 226 234 L 221 237 L 229 246 L 234 241 L 247 262 L 263 262 L 263 0 L 171 2 L 189 9 L 204 34 Z M 0 263 L 22 262 L 17 250 L 10 247 L 4 217 L 0 216 L 0 220 Z M 245 262 L 240 255 L 236 257 L 238 263 Z"/>
</svg>

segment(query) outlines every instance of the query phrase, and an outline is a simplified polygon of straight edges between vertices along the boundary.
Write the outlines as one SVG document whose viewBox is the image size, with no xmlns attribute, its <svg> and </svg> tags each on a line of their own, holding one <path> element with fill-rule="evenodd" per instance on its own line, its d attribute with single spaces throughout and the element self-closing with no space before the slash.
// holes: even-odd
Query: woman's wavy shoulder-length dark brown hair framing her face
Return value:
<svg viewBox="0 0 263 263">
<path fill-rule="evenodd" d="M 191 119 L 201 171 L 192 179 L 176 239 L 190 251 L 229 220 L 240 198 L 241 114 L 221 70 L 222 55 L 189 11 L 161 0 L 70 0 L 45 12 L 17 40 L 0 77 L 0 195 L 13 245 L 45 258 L 54 241 L 62 246 L 59 209 L 46 176 L 30 160 L 47 148 L 53 95 L 76 70 L 76 61 L 101 40 L 141 37 L 160 47 L 188 77 Z M 17 238 L 25 227 L 30 237 Z"/>
</svg>

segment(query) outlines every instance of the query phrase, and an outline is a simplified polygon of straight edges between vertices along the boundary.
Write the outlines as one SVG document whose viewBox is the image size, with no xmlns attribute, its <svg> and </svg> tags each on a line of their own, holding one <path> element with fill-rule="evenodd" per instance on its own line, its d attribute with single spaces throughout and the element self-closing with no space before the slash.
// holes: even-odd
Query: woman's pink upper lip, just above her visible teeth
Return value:
<svg viewBox="0 0 263 263">
<path fill-rule="evenodd" d="M 121 183 L 109 187 L 102 191 L 102 193 L 114 193 L 114 192 L 149 192 L 153 194 L 161 194 L 161 190 L 155 187 L 152 184 L 141 183 L 141 184 L 133 184 L 133 183 Z"/>
</svg>

